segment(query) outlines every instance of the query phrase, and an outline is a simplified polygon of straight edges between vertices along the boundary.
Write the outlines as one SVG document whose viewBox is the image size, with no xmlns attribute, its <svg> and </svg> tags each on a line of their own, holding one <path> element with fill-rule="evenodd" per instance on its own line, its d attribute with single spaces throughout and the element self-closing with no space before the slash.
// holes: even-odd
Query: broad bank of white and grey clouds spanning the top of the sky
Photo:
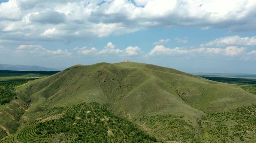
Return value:
<svg viewBox="0 0 256 143">
<path fill-rule="evenodd" d="M 255 0 L 9 0 L 0 3 L 0 39 L 86 40 L 171 26 L 255 31 L 254 13 Z"/>
</svg>

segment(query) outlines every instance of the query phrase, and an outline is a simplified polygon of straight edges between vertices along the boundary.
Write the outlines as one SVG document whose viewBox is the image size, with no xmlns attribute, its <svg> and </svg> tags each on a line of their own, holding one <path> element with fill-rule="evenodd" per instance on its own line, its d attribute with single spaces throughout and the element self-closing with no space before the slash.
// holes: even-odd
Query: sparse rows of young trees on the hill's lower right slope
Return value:
<svg viewBox="0 0 256 143">
<path fill-rule="evenodd" d="M 256 104 L 231 111 L 208 114 L 201 124 L 210 127 L 206 142 L 244 142 L 256 140 Z M 214 126 L 212 126 L 214 124 Z"/>
</svg>

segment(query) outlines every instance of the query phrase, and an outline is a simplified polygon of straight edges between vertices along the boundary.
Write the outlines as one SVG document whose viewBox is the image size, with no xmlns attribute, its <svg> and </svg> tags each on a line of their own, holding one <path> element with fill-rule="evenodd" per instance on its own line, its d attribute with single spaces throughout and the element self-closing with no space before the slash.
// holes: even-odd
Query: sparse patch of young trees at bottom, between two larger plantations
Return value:
<svg viewBox="0 0 256 143">
<path fill-rule="evenodd" d="M 192 122 L 185 120 L 184 116 L 144 115 L 139 121 L 150 128 L 159 139 L 163 139 L 163 142 L 201 143 Z"/>
</svg>

